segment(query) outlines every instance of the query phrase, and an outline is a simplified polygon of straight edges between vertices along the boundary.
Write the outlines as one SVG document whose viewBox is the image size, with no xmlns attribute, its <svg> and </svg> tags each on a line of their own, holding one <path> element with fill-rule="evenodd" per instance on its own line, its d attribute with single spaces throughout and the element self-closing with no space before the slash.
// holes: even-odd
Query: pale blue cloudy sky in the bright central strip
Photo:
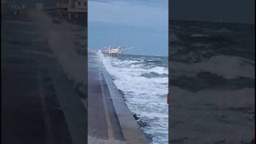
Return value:
<svg viewBox="0 0 256 144">
<path fill-rule="evenodd" d="M 123 46 L 126 54 L 167 56 L 168 0 L 89 0 L 88 46 Z"/>
</svg>

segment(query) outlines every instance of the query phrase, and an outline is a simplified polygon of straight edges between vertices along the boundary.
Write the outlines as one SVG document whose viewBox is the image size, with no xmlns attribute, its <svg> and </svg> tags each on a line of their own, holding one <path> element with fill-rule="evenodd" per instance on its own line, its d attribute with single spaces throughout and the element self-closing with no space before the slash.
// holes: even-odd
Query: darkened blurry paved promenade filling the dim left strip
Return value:
<svg viewBox="0 0 256 144">
<path fill-rule="evenodd" d="M 37 25 L 1 22 L 2 143 L 86 143 L 86 110 Z"/>
</svg>

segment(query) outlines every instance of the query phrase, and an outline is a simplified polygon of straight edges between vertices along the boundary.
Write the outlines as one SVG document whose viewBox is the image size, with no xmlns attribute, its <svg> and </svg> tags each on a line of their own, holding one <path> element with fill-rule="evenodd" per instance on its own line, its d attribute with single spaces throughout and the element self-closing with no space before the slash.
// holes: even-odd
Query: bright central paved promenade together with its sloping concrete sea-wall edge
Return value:
<svg viewBox="0 0 256 144">
<path fill-rule="evenodd" d="M 95 54 L 88 55 L 88 134 L 89 143 L 146 143 L 122 94 Z"/>
</svg>

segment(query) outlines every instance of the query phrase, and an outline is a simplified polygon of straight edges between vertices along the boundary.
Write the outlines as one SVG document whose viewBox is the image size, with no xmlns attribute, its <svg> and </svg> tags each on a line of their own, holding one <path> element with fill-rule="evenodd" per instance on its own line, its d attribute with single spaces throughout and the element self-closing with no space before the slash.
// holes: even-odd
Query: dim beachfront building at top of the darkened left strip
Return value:
<svg viewBox="0 0 256 144">
<path fill-rule="evenodd" d="M 87 13 L 87 2 L 86 0 L 69 0 L 68 3 L 68 19 L 70 21 L 77 21 L 86 23 Z"/>
</svg>

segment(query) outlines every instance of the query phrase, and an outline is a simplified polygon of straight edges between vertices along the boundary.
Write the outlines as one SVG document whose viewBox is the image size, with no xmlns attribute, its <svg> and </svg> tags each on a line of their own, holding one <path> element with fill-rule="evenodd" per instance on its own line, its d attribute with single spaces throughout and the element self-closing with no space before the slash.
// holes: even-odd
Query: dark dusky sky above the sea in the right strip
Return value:
<svg viewBox="0 0 256 144">
<path fill-rule="evenodd" d="M 176 20 L 254 23 L 254 3 L 254 0 L 171 0 L 170 17 Z"/>
</svg>

